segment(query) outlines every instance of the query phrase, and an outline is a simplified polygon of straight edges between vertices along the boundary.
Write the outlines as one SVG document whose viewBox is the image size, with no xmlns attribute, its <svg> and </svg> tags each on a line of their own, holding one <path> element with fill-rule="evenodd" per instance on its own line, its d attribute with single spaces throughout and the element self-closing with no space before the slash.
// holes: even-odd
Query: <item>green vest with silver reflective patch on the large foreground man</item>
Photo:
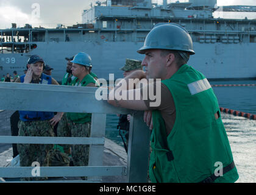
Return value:
<svg viewBox="0 0 256 195">
<path fill-rule="evenodd" d="M 219 105 L 204 75 L 183 65 L 162 83 L 171 91 L 176 105 L 176 122 L 166 135 L 160 111 L 152 112 L 149 176 L 152 182 L 201 182 L 230 165 L 232 151 L 221 116 L 215 119 Z M 163 95 L 163 94 L 162 94 Z M 221 163 L 221 164 L 220 164 Z M 235 182 L 236 168 L 215 182 Z"/>
</svg>

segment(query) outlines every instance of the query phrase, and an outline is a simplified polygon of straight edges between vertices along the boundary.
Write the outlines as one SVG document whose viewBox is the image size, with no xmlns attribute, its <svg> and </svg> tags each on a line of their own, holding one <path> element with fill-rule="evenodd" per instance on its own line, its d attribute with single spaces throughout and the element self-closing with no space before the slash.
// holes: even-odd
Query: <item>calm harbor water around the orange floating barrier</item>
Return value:
<svg viewBox="0 0 256 195">
<path fill-rule="evenodd" d="M 215 81 L 221 84 L 256 84 L 256 80 Z M 256 115 L 256 87 L 213 87 L 219 107 L 230 108 Z M 240 178 L 237 182 L 256 182 L 256 121 L 221 113 L 226 127 L 233 158 Z M 106 137 L 123 146 L 116 126 L 118 117 L 107 116 Z"/>
</svg>

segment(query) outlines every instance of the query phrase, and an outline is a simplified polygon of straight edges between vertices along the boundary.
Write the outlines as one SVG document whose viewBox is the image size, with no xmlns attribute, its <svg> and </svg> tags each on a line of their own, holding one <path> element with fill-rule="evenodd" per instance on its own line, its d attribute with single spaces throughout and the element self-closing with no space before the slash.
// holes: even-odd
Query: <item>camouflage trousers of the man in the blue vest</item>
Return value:
<svg viewBox="0 0 256 195">
<path fill-rule="evenodd" d="M 53 137 L 54 132 L 49 121 L 19 121 L 19 135 L 23 137 Z M 40 163 L 40 166 L 49 166 L 49 151 L 53 144 L 18 144 L 20 153 L 20 166 L 31 166 L 34 161 Z M 46 177 L 35 180 L 46 180 Z M 21 180 L 31 180 L 29 178 Z"/>
</svg>

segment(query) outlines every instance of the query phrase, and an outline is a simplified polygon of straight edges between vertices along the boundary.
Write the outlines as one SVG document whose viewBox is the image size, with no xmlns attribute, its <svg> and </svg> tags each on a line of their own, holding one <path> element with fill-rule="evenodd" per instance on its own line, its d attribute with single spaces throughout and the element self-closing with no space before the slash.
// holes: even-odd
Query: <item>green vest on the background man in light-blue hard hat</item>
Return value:
<svg viewBox="0 0 256 195">
<path fill-rule="evenodd" d="M 71 83 L 72 86 L 78 86 L 78 87 L 86 87 L 89 83 L 98 83 L 90 74 L 87 74 L 87 76 L 84 77 L 84 79 L 79 83 L 79 79 L 73 80 Z M 68 119 L 75 123 L 85 123 L 85 122 L 91 122 L 91 113 L 66 113 L 66 116 Z"/>
</svg>

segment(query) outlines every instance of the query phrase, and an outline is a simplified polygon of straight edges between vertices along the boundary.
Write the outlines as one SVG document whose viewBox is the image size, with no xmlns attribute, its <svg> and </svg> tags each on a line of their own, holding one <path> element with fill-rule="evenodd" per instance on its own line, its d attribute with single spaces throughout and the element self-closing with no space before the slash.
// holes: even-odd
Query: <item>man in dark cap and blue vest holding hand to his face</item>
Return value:
<svg viewBox="0 0 256 195">
<path fill-rule="evenodd" d="M 43 74 L 44 60 L 38 55 L 32 55 L 27 62 L 27 74 L 16 79 L 15 82 L 37 83 L 59 85 L 51 76 Z M 53 128 L 62 117 L 62 113 L 54 112 L 32 112 L 19 111 L 20 121 L 18 123 L 19 134 L 23 137 L 53 137 Z M 20 153 L 20 166 L 32 166 L 32 163 L 38 162 L 40 166 L 49 166 L 49 151 L 53 144 L 18 144 Z M 47 177 L 30 177 L 21 180 L 46 180 Z"/>
</svg>

